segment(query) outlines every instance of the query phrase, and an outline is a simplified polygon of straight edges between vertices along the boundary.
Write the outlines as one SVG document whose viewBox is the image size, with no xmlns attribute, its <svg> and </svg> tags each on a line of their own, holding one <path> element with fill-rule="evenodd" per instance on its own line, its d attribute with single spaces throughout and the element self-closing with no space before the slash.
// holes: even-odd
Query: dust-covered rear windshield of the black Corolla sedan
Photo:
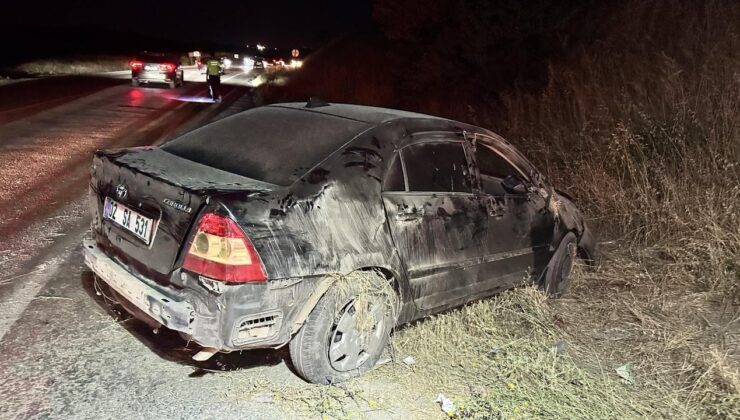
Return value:
<svg viewBox="0 0 740 420">
<path fill-rule="evenodd" d="M 290 185 L 367 128 L 346 118 L 262 107 L 199 128 L 162 148 L 227 172 Z"/>
</svg>

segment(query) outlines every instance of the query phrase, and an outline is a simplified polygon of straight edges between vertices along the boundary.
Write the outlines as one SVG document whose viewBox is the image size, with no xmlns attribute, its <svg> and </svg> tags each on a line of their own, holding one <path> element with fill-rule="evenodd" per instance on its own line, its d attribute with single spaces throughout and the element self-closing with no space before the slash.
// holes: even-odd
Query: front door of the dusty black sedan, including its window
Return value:
<svg viewBox="0 0 740 420">
<path fill-rule="evenodd" d="M 473 144 L 488 232 L 480 275 L 501 290 L 530 281 L 549 261 L 553 217 L 540 189 L 495 145 Z"/>
</svg>

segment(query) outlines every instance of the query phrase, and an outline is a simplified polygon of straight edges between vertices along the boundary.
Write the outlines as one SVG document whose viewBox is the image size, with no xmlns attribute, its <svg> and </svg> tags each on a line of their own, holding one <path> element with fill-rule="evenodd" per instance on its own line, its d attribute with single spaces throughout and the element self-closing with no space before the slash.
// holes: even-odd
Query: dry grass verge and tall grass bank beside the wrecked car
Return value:
<svg viewBox="0 0 740 420">
<path fill-rule="evenodd" d="M 419 418 L 439 392 L 463 417 L 740 418 L 738 21 L 731 1 L 630 1 L 503 113 L 420 109 L 506 135 L 591 216 L 604 259 L 563 299 L 519 289 L 399 331 L 393 354 L 417 363 L 341 392 L 400 390 L 381 409 Z M 332 401 L 319 412 L 346 416 Z"/>
</svg>

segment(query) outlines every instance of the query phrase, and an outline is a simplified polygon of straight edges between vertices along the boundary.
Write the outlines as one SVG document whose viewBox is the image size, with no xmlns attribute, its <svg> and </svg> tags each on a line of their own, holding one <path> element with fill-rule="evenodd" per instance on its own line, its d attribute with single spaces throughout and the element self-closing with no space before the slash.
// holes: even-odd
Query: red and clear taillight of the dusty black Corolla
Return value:
<svg viewBox="0 0 740 420">
<path fill-rule="evenodd" d="M 201 217 L 182 267 L 224 282 L 267 279 L 252 241 L 236 222 L 215 213 Z"/>
</svg>

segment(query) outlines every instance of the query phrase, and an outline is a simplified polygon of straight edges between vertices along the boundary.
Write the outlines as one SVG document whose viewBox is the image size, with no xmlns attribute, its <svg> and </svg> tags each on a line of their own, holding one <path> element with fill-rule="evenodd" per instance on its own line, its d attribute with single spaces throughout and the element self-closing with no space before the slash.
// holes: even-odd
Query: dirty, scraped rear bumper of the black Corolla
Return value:
<svg viewBox="0 0 740 420">
<path fill-rule="evenodd" d="M 179 331 L 220 351 L 276 348 L 290 341 L 299 302 L 317 282 L 226 285 L 178 272 L 178 287 L 138 276 L 107 255 L 95 239 L 83 240 L 85 264 L 126 302 L 134 317 Z M 155 326 L 158 326 L 156 325 Z"/>
</svg>

